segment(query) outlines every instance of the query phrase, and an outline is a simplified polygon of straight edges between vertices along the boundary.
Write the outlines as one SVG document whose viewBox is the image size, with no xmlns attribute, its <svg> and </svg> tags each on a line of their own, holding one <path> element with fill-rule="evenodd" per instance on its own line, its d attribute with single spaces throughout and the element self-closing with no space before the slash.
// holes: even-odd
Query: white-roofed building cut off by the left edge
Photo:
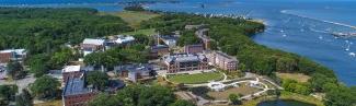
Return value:
<svg viewBox="0 0 356 106">
<path fill-rule="evenodd" d="M 27 51 L 25 49 L 0 50 L 0 63 L 8 63 L 11 60 L 21 62 L 26 56 Z"/>
</svg>

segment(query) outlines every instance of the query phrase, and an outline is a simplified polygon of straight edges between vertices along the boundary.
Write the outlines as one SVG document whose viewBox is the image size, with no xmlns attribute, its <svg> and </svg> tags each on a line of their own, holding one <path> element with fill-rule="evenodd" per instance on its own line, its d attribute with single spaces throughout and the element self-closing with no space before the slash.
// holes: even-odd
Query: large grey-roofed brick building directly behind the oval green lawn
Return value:
<svg viewBox="0 0 356 106">
<path fill-rule="evenodd" d="M 175 54 L 162 58 L 168 73 L 208 69 L 208 60 L 204 54 Z"/>
</svg>

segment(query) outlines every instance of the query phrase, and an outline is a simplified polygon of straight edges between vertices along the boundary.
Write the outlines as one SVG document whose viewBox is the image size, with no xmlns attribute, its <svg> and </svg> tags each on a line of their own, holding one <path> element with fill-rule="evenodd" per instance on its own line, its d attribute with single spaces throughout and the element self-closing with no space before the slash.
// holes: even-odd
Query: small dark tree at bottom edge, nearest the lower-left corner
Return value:
<svg viewBox="0 0 356 106">
<path fill-rule="evenodd" d="M 16 96 L 15 106 L 33 106 L 33 98 L 27 90 L 22 90 L 22 93 Z"/>
</svg>

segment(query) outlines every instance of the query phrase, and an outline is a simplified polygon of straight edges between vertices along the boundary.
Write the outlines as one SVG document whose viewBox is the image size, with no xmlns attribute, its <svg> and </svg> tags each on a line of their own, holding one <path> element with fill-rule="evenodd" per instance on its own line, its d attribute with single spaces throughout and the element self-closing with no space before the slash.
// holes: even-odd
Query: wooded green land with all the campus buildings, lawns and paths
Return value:
<svg viewBox="0 0 356 106">
<path fill-rule="evenodd" d="M 253 43 L 252 19 L 130 4 L 0 8 L 0 106 L 356 105 L 332 70 Z"/>
</svg>

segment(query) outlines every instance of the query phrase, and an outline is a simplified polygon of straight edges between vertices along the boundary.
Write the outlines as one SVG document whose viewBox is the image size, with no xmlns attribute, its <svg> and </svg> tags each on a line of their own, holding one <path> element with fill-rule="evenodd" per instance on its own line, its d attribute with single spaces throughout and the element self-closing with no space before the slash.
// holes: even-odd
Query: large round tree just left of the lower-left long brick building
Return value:
<svg viewBox="0 0 356 106">
<path fill-rule="evenodd" d="M 49 75 L 44 75 L 38 79 L 30 86 L 31 92 L 35 97 L 38 98 L 53 98 L 57 94 L 60 83 L 57 79 Z"/>
</svg>

